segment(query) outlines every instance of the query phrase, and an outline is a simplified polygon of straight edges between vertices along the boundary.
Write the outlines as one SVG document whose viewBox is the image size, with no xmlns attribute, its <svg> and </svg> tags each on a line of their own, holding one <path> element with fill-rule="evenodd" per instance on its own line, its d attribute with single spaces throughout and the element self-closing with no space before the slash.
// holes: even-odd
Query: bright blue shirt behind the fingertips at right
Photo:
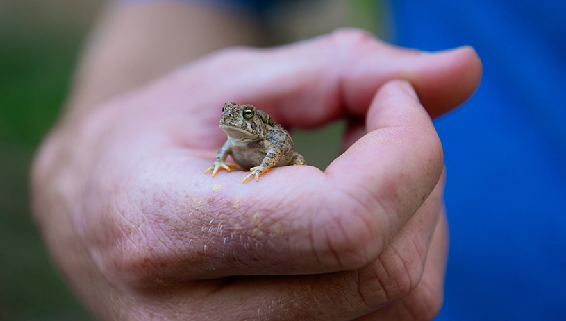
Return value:
<svg viewBox="0 0 566 321">
<path fill-rule="evenodd" d="M 438 320 L 566 320 L 566 1 L 392 0 L 397 43 L 474 46 L 478 92 L 435 121 L 451 249 Z"/>
</svg>

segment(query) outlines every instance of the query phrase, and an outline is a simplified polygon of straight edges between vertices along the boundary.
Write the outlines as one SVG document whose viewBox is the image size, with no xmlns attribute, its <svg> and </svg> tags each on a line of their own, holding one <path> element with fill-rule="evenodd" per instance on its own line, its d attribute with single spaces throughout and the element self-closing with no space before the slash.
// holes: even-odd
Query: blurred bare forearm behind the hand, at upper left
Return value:
<svg viewBox="0 0 566 321">
<path fill-rule="evenodd" d="M 226 46 L 257 45 L 248 17 L 188 3 L 110 3 L 77 68 L 69 100 L 78 116 L 106 98 Z"/>
</svg>

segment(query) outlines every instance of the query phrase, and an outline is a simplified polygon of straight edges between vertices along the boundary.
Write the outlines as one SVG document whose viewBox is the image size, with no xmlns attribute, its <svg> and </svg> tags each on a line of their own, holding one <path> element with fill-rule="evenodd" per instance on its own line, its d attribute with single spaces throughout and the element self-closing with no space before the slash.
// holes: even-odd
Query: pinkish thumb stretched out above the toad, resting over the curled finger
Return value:
<svg viewBox="0 0 566 321">
<path fill-rule="evenodd" d="M 284 127 L 364 117 L 377 90 L 393 79 L 408 80 L 435 117 L 469 98 L 481 78 L 471 47 L 422 53 L 351 29 L 274 49 L 228 49 L 205 62 L 185 87 L 201 87 L 218 109 L 226 101 L 255 105 Z"/>
</svg>

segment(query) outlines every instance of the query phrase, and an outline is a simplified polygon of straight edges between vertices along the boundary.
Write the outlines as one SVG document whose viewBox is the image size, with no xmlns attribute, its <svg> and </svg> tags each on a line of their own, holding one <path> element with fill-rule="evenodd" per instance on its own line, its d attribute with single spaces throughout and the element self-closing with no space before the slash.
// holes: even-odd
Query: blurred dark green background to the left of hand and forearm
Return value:
<svg viewBox="0 0 566 321">
<path fill-rule="evenodd" d="M 33 225 L 28 168 L 101 1 L 0 0 L 0 320 L 92 320 Z"/>
</svg>

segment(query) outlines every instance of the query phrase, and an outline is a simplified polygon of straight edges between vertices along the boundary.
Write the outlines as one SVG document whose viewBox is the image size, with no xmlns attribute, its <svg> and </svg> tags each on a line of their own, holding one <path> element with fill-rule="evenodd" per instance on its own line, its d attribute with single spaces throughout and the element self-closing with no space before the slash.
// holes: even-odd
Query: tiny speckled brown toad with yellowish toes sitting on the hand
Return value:
<svg viewBox="0 0 566 321">
<path fill-rule="evenodd" d="M 306 165 L 305 159 L 293 150 L 293 140 L 287 130 L 273 121 L 271 116 L 252 105 L 238 105 L 228 102 L 222 107 L 220 128 L 228 135 L 228 140 L 220 148 L 214 160 L 204 173 L 213 171 L 213 177 L 221 168 L 241 168 L 251 171 L 244 184 L 255 176 L 267 173 L 274 166 Z M 232 155 L 234 164 L 224 162 Z"/>
</svg>

